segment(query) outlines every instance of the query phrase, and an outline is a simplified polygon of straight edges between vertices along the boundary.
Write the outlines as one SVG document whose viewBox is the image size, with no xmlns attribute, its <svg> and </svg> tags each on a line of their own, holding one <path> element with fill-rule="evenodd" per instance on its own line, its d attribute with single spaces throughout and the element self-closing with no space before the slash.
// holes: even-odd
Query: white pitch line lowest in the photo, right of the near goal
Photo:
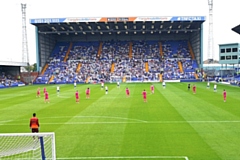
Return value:
<svg viewBox="0 0 240 160">
<path fill-rule="evenodd" d="M 116 156 L 116 157 L 72 157 L 72 158 L 57 158 L 57 159 L 185 159 L 186 156 Z"/>
</svg>

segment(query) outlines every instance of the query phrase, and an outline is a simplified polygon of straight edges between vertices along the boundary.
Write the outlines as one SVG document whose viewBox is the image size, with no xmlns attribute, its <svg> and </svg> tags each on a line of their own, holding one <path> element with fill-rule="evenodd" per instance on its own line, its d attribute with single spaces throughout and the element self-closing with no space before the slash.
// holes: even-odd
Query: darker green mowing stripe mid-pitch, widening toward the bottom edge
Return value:
<svg viewBox="0 0 240 160">
<path fill-rule="evenodd" d="M 149 88 L 150 85 L 146 84 L 146 86 L 141 85 L 144 88 Z M 162 95 L 165 94 L 171 94 L 167 90 L 167 88 L 171 88 L 171 85 L 168 85 L 167 88 L 164 90 L 161 86 L 161 84 L 155 84 L 155 87 L 158 92 L 161 92 Z M 182 116 L 172 107 L 168 102 L 167 99 L 165 99 L 164 96 L 161 96 L 161 94 L 156 95 L 159 96 L 159 101 L 156 101 L 156 98 L 154 98 L 152 95 L 148 97 L 148 103 L 143 104 L 139 106 L 142 107 L 136 107 L 135 110 L 132 110 L 133 114 L 139 114 L 139 110 L 145 110 L 148 108 L 149 110 L 152 110 L 149 114 L 147 114 L 147 111 L 144 111 L 142 114 L 143 117 L 150 117 L 151 115 L 154 115 L 154 113 L 159 114 L 159 116 L 156 117 L 157 119 L 161 119 L 161 117 L 166 117 L 166 113 L 164 110 L 159 107 L 159 103 L 163 103 L 163 107 L 166 107 L 165 110 L 171 109 L 169 111 L 170 114 L 168 115 L 168 120 L 184 120 Z M 153 102 L 151 100 L 154 100 Z M 143 103 L 141 101 L 141 103 Z M 150 109 L 149 109 L 150 108 Z M 154 110 L 155 109 L 155 110 Z M 164 115 L 165 114 L 165 115 Z M 162 116 L 164 115 L 164 116 Z M 148 118 L 146 118 L 148 119 Z M 151 118 L 152 119 L 152 118 Z M 137 125 L 137 124 L 128 124 L 128 129 L 125 134 L 125 143 L 124 148 L 128 148 L 128 146 L 131 146 L 131 150 L 124 150 L 122 153 L 123 155 L 130 153 L 148 153 L 148 155 L 177 155 L 177 154 L 184 154 L 184 155 L 193 155 L 196 154 L 196 156 L 200 157 L 202 155 L 198 154 L 198 149 L 193 147 L 196 144 L 199 144 L 201 148 L 204 149 L 204 154 L 208 154 L 209 151 L 207 148 L 209 148 L 204 142 L 202 142 L 201 139 L 199 139 L 199 136 L 195 134 L 195 130 L 192 129 L 192 127 L 187 123 L 176 123 L 176 124 L 168 124 L 168 123 L 147 123 L 143 125 Z M 141 133 L 141 134 L 138 134 Z M 182 135 L 181 133 L 189 133 L 187 135 Z M 191 134 L 190 134 L 191 133 Z M 189 141 L 189 138 L 195 142 Z M 191 148 L 191 150 L 189 150 Z M 201 153 L 203 154 L 203 153 Z M 216 154 L 213 153 L 214 158 L 218 158 Z"/>
</svg>

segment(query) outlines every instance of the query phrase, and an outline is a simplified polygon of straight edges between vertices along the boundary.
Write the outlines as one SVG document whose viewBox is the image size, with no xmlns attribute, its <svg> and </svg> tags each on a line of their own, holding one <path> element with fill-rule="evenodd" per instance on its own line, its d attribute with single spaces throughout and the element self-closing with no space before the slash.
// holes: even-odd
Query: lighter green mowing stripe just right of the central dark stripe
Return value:
<svg viewBox="0 0 240 160">
<path fill-rule="evenodd" d="M 177 87 L 175 90 L 178 90 Z M 225 110 L 218 107 L 218 103 L 215 102 L 215 105 L 207 103 L 204 99 L 202 99 L 202 95 L 208 94 L 215 94 L 215 93 L 206 93 L 205 90 L 197 91 L 197 94 L 192 93 L 181 93 L 181 96 L 177 96 L 177 93 L 172 93 L 173 95 L 167 96 L 166 98 L 169 99 L 171 104 L 175 106 L 178 112 L 186 119 L 186 121 L 196 121 L 196 120 L 206 120 L 206 121 L 221 121 L 221 120 L 239 120 L 239 117 L 226 112 Z M 175 95 L 174 95 L 175 94 Z M 184 94 L 188 94 L 189 98 L 187 103 L 183 102 L 185 99 L 182 99 Z M 221 96 L 221 95 L 220 95 Z M 174 97 L 174 98 L 173 98 Z M 201 97 L 201 98 L 200 98 Z M 224 103 L 221 101 L 221 103 Z M 181 104 L 185 104 L 184 106 Z M 224 157 L 224 159 L 232 159 L 231 155 L 239 155 L 239 149 L 236 145 L 236 149 L 229 150 L 229 142 L 231 143 L 240 143 L 238 139 L 233 138 L 239 134 L 239 127 L 237 130 L 230 129 L 229 126 L 240 126 L 238 124 L 231 124 L 231 123 L 189 123 L 194 130 L 198 133 L 199 136 L 219 155 L 219 157 Z M 231 130 L 231 132 L 222 132 L 224 130 Z M 211 134 L 209 134 L 211 133 Z M 218 133 L 221 133 L 219 135 Z M 224 136 L 223 136 L 224 135 Z M 223 137 L 224 138 L 223 138 Z M 221 138 L 222 137 L 222 138 Z M 227 137 L 227 138 L 226 138 Z M 216 144 L 216 141 L 218 142 Z M 223 149 L 224 148 L 224 149 Z M 235 148 L 235 147 L 234 147 Z"/>
</svg>

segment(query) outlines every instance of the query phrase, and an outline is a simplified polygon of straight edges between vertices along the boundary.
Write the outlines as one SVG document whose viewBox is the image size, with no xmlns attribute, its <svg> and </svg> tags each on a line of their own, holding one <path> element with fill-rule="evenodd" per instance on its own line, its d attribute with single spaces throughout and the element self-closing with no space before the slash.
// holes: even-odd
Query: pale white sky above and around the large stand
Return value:
<svg viewBox="0 0 240 160">
<path fill-rule="evenodd" d="M 206 16 L 203 23 L 203 59 L 208 51 L 208 0 L 4 0 L 0 4 L 0 61 L 22 61 L 21 3 L 27 4 L 27 39 L 30 64 L 36 63 L 34 18 L 131 17 L 131 16 Z M 213 2 L 214 59 L 218 45 L 240 43 L 231 29 L 240 24 L 239 0 Z"/>
</svg>

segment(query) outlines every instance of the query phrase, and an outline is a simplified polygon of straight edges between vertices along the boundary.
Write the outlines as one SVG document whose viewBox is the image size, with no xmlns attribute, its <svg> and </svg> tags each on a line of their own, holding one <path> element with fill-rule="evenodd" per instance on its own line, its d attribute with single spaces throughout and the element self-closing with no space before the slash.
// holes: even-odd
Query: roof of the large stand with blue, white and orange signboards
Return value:
<svg viewBox="0 0 240 160">
<path fill-rule="evenodd" d="M 71 17 L 30 19 L 39 34 L 167 34 L 199 31 L 204 16 Z"/>
</svg>

